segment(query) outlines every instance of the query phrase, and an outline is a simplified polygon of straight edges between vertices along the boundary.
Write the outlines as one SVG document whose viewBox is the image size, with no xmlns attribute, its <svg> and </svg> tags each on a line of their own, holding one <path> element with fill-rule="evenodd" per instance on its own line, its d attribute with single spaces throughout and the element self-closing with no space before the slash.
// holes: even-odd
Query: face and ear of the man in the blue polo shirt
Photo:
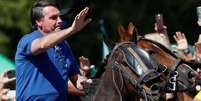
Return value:
<svg viewBox="0 0 201 101">
<path fill-rule="evenodd" d="M 62 27 L 62 20 L 60 18 L 60 11 L 54 6 L 47 6 L 43 8 L 43 16 L 41 20 L 37 21 L 40 30 L 44 34 L 54 31 L 60 31 Z"/>
</svg>

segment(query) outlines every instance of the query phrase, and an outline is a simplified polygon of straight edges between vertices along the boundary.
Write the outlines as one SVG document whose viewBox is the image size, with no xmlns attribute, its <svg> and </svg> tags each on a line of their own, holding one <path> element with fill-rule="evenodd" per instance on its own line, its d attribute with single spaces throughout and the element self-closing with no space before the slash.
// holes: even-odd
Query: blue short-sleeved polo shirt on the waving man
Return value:
<svg viewBox="0 0 201 101">
<path fill-rule="evenodd" d="M 42 36 L 39 31 L 34 31 L 18 43 L 15 56 L 17 101 L 67 101 L 68 77 L 79 73 L 65 41 L 33 55 L 31 43 Z"/>
</svg>

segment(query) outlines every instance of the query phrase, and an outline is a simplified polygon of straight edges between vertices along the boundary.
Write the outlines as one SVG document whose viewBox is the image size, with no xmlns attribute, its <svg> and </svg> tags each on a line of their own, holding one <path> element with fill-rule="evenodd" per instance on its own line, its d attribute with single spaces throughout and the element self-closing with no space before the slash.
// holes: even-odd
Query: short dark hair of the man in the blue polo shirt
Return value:
<svg viewBox="0 0 201 101">
<path fill-rule="evenodd" d="M 60 6 L 55 1 L 38 0 L 31 8 L 30 19 L 31 19 L 31 24 L 32 24 L 33 30 L 37 29 L 36 20 L 41 20 L 44 17 L 43 8 L 46 6 L 54 6 L 58 9 L 60 9 Z"/>
</svg>

